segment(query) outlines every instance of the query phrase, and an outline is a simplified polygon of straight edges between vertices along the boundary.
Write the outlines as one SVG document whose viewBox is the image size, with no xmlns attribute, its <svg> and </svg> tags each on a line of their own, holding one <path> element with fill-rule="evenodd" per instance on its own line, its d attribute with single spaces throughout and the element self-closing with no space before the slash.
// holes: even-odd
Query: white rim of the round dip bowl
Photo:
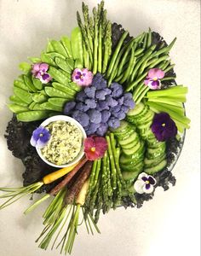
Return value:
<svg viewBox="0 0 201 256">
<path fill-rule="evenodd" d="M 40 124 L 40 126 L 47 126 L 49 125 L 50 123 L 53 123 L 55 121 L 66 121 L 66 122 L 70 122 L 72 123 L 73 125 L 76 125 L 78 127 L 78 129 L 82 132 L 82 135 L 83 135 L 83 140 L 87 137 L 86 135 L 86 132 L 84 131 L 83 129 L 83 126 L 80 125 L 80 123 L 78 123 L 78 121 L 76 119 L 73 119 L 72 117 L 70 116 L 67 116 L 67 115 L 55 115 L 55 116 L 52 116 L 48 119 L 45 119 L 43 120 L 43 122 Z M 54 163 L 51 163 L 49 160 L 47 160 L 45 157 L 43 157 L 43 154 L 41 153 L 41 148 L 38 148 L 36 147 L 36 150 L 37 150 L 37 154 L 39 155 L 39 157 L 43 160 L 43 162 L 45 162 L 46 164 L 48 164 L 49 166 L 53 166 L 53 167 L 56 167 L 56 168 L 65 168 L 65 167 L 68 167 L 68 166 L 73 166 L 75 165 L 76 163 L 78 163 L 79 160 L 82 159 L 83 157 L 83 154 L 84 154 L 84 151 L 83 151 L 83 143 L 82 143 L 82 148 L 80 149 L 80 152 L 78 154 L 78 156 L 72 160 L 72 162 L 68 163 L 68 164 L 65 164 L 65 165 L 56 165 Z"/>
</svg>

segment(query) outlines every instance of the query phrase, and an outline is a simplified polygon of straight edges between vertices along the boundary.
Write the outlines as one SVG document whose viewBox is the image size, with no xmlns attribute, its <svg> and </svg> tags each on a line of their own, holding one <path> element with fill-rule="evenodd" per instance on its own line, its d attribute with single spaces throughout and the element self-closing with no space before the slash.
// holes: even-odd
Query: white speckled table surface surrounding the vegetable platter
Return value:
<svg viewBox="0 0 201 256">
<path fill-rule="evenodd" d="M 87 0 L 93 7 L 98 1 Z M 19 186 L 24 170 L 20 160 L 7 150 L 3 137 L 12 113 L 6 107 L 12 94 L 18 65 L 26 56 L 40 55 L 47 38 L 59 39 L 77 26 L 78 0 L 0 0 L 0 186 Z M 121 208 L 100 217 L 101 235 L 88 236 L 80 229 L 72 255 L 198 256 L 199 255 L 199 154 L 200 154 L 200 5 L 196 0 L 106 0 L 108 16 L 132 35 L 147 30 L 159 32 L 169 43 L 177 37 L 171 57 L 177 83 L 189 87 L 187 116 L 192 120 L 174 175 L 175 187 L 141 209 Z M 43 228 L 44 206 L 28 216 L 28 197 L 0 212 L 0 255 L 60 255 L 43 252 L 35 239 Z M 47 204 L 45 204 L 47 206 Z"/>
</svg>

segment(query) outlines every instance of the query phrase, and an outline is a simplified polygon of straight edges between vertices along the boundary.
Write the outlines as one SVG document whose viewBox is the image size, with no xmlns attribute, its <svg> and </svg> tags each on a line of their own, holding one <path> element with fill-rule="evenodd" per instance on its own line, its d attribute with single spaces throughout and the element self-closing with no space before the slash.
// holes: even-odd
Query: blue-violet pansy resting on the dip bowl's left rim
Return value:
<svg viewBox="0 0 201 256">
<path fill-rule="evenodd" d="M 39 126 L 32 132 L 30 143 L 33 147 L 43 148 L 49 142 L 49 138 L 49 130 L 43 126 Z"/>
</svg>

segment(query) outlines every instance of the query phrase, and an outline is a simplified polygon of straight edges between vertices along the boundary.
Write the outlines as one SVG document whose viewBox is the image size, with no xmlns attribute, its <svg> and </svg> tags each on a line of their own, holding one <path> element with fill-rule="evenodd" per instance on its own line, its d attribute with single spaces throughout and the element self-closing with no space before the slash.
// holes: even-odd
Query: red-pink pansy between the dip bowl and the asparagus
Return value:
<svg viewBox="0 0 201 256">
<path fill-rule="evenodd" d="M 105 137 L 87 137 L 83 145 L 88 160 L 100 159 L 104 156 L 107 149 Z"/>
</svg>

